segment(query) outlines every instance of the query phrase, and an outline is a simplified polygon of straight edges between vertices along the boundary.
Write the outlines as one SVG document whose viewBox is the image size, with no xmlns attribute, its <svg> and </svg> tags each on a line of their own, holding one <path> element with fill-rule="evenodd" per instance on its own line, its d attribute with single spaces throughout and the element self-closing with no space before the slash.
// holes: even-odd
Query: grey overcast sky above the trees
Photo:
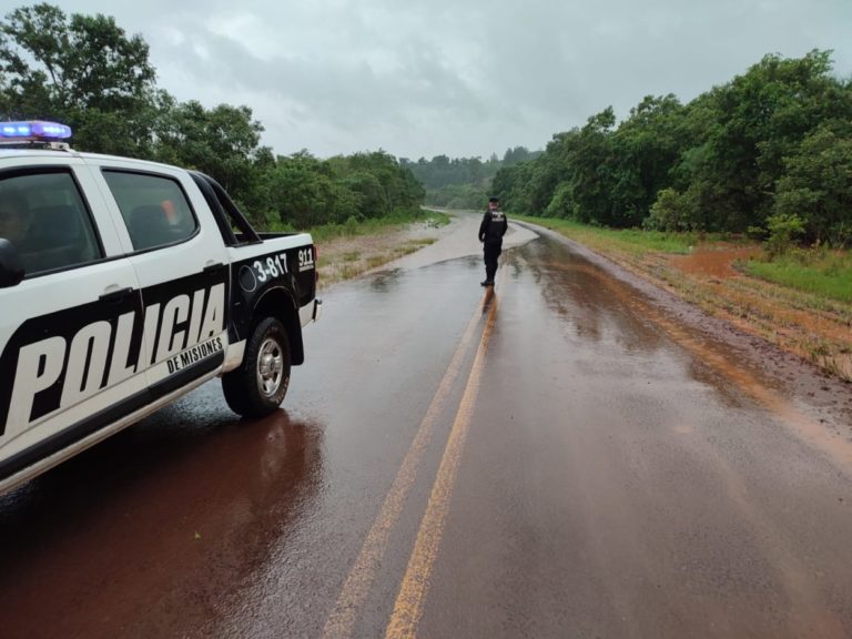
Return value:
<svg viewBox="0 0 852 639">
<path fill-rule="evenodd" d="M 852 0 L 53 3 L 114 16 L 150 44 L 161 88 L 251 106 L 281 154 L 540 149 L 609 104 L 623 118 L 646 94 L 688 102 L 769 52 L 833 49 L 852 77 Z"/>
</svg>

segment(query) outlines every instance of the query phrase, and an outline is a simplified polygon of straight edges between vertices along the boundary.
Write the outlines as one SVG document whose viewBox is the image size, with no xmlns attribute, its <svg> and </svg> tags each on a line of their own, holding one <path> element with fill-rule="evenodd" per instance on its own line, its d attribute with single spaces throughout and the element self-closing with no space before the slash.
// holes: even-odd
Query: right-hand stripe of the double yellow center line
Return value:
<svg viewBox="0 0 852 639">
<path fill-rule="evenodd" d="M 505 277 L 501 277 L 501 281 L 504 280 Z M 467 379 L 465 394 L 462 397 L 447 446 L 444 449 L 444 456 L 440 460 L 435 484 L 432 487 L 426 513 L 423 516 L 423 521 L 420 521 L 417 540 L 414 544 L 414 550 L 408 560 L 408 568 L 405 571 L 405 577 L 394 605 L 394 611 L 387 625 L 386 639 L 416 636 L 417 625 L 423 613 L 423 604 L 429 589 L 432 569 L 438 556 L 440 540 L 444 535 L 444 524 L 449 510 L 449 500 L 453 495 L 470 418 L 474 414 L 474 405 L 479 393 L 479 382 L 483 368 L 485 367 L 485 354 L 491 337 L 496 316 L 497 300 L 494 297 L 485 331 L 479 342 L 479 348 L 476 352 L 476 358 Z"/>
</svg>

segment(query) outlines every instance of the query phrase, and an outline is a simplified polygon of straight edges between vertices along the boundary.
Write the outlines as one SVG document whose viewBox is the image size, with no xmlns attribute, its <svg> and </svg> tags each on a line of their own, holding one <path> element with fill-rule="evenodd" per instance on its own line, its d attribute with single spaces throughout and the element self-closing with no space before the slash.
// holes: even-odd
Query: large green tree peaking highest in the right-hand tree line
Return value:
<svg viewBox="0 0 852 639">
<path fill-rule="evenodd" d="M 681 187 L 702 183 L 711 196 L 701 217 L 713 226 L 746 231 L 762 226 L 772 212 L 784 158 L 826 119 L 852 118 L 852 93 L 831 74 L 830 52 L 801 59 L 765 55 L 743 75 L 697 99 L 693 120 L 697 153 L 686 154 L 674 174 Z M 700 204 L 702 205 L 702 204 Z"/>
</svg>

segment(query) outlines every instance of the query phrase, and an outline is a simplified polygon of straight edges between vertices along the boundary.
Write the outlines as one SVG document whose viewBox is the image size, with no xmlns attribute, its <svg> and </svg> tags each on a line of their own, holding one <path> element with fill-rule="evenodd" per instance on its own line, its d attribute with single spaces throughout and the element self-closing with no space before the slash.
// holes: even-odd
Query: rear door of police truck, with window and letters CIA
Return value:
<svg viewBox="0 0 852 639">
<path fill-rule="evenodd" d="M 153 396 L 161 397 L 222 366 L 227 252 L 185 172 L 130 161 L 110 162 L 95 172 L 142 287 L 141 363 Z"/>
</svg>

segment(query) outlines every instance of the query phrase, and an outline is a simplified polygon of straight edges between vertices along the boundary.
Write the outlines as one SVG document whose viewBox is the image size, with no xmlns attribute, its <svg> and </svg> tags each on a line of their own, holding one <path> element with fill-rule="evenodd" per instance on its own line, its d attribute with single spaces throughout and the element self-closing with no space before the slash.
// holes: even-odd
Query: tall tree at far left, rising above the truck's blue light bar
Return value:
<svg viewBox="0 0 852 639">
<path fill-rule="evenodd" d="M 41 3 L 0 26 L 3 114 L 65 122 L 83 150 L 151 155 L 155 77 L 148 44 L 113 18 Z"/>
</svg>

